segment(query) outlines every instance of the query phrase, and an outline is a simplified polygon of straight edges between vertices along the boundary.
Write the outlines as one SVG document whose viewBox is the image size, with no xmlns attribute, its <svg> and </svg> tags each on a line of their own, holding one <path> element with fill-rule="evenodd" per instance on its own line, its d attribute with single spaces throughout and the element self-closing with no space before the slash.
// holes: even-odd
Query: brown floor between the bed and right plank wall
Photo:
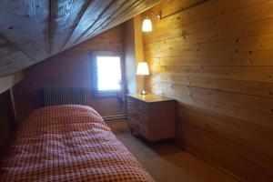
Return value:
<svg viewBox="0 0 273 182">
<path fill-rule="evenodd" d="M 131 136 L 126 119 L 106 123 L 157 182 L 238 181 L 177 147 L 172 141 L 147 146 L 141 137 Z"/>
</svg>

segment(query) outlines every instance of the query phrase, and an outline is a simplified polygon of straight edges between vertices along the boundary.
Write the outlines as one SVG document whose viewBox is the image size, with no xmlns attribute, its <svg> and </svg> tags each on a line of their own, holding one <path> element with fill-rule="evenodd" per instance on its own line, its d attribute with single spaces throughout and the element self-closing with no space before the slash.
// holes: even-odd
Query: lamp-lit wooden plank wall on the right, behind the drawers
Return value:
<svg viewBox="0 0 273 182">
<path fill-rule="evenodd" d="M 147 89 L 177 99 L 179 143 L 246 181 L 273 181 L 272 9 L 169 0 L 143 14 Z"/>
</svg>

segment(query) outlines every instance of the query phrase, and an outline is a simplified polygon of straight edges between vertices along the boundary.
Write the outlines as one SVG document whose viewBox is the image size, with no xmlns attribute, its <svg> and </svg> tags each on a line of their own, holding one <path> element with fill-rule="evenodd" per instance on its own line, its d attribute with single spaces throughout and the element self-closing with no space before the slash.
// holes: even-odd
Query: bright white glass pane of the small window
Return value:
<svg viewBox="0 0 273 182">
<path fill-rule="evenodd" d="M 98 90 L 118 90 L 121 81 L 120 57 L 97 56 L 96 64 Z"/>
</svg>

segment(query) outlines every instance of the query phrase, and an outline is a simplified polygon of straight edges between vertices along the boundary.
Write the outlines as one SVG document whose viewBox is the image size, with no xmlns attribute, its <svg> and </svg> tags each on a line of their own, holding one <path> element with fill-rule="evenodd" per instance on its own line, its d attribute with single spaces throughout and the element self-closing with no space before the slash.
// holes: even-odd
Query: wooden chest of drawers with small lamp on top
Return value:
<svg viewBox="0 0 273 182">
<path fill-rule="evenodd" d="M 127 121 L 149 142 L 175 137 L 176 100 L 166 96 L 126 95 Z"/>
</svg>

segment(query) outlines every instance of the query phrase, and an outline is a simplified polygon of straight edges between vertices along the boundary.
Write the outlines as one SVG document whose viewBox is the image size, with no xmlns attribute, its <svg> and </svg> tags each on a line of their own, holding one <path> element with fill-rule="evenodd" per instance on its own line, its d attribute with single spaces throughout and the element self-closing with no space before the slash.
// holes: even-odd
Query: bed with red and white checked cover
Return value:
<svg viewBox="0 0 273 182">
<path fill-rule="evenodd" d="M 36 109 L 1 163 L 0 181 L 154 181 L 89 106 Z"/>
</svg>

